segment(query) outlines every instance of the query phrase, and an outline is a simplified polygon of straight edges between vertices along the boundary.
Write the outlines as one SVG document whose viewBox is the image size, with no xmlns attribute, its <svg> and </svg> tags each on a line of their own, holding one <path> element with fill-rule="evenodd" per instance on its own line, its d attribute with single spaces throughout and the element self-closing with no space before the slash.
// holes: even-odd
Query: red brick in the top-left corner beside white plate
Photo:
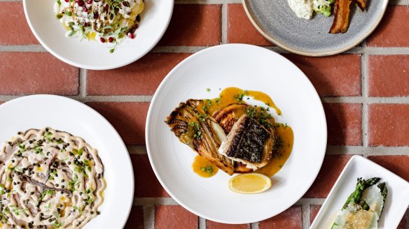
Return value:
<svg viewBox="0 0 409 229">
<path fill-rule="evenodd" d="M 0 45 L 39 44 L 25 19 L 22 2 L 0 2 Z"/>
</svg>

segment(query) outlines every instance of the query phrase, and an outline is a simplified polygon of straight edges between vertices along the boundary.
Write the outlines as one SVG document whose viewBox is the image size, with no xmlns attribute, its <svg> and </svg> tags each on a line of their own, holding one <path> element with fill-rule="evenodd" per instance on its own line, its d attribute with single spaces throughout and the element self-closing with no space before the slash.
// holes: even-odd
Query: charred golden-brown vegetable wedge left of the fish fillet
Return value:
<svg viewBox="0 0 409 229">
<path fill-rule="evenodd" d="M 221 145 L 221 141 L 211 127 L 212 120 L 205 119 L 205 121 L 202 121 L 202 119 L 197 117 L 197 111 L 193 106 L 193 103 L 196 102 L 197 101 L 187 101 L 186 103 L 180 103 L 179 107 L 169 114 L 165 123 L 181 142 L 195 150 L 200 156 L 207 158 L 207 160 L 228 173 L 228 175 L 233 175 L 233 161 L 219 154 L 218 149 Z M 200 138 L 193 137 L 195 130 L 189 125 L 191 122 L 199 124 L 201 131 Z"/>
</svg>

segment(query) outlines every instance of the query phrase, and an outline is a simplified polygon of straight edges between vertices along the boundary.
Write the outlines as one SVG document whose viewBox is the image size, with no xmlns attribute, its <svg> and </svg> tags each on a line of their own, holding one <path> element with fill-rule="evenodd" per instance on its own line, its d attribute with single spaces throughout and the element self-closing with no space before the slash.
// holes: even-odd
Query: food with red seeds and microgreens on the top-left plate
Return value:
<svg viewBox="0 0 409 229">
<path fill-rule="evenodd" d="M 125 36 L 135 37 L 143 10 L 143 0 L 57 0 L 54 6 L 67 37 L 109 43 L 110 52 Z"/>
</svg>

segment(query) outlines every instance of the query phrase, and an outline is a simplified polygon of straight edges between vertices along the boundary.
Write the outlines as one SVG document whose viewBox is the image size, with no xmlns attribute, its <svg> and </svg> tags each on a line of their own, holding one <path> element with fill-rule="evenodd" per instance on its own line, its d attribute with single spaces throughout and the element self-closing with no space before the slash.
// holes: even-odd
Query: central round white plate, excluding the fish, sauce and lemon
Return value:
<svg viewBox="0 0 409 229">
<path fill-rule="evenodd" d="M 273 113 L 277 121 L 293 128 L 293 153 L 265 193 L 233 193 L 222 171 L 197 176 L 190 167 L 196 153 L 164 122 L 180 102 L 216 98 L 226 87 L 267 93 L 282 110 L 283 117 Z M 290 61 L 263 47 L 219 45 L 193 54 L 165 77 L 148 111 L 146 145 L 155 175 L 183 207 L 212 221 L 250 223 L 283 212 L 310 188 L 325 154 L 326 119 L 314 87 Z"/>
</svg>

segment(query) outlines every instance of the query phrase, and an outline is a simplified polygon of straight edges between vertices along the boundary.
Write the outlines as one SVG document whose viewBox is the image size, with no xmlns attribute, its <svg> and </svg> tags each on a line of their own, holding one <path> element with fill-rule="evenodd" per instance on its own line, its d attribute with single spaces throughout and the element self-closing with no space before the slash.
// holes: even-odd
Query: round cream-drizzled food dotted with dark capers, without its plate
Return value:
<svg viewBox="0 0 409 229">
<path fill-rule="evenodd" d="M 104 201 L 104 165 L 82 138 L 29 129 L 0 152 L 1 228 L 82 228 Z"/>
</svg>

